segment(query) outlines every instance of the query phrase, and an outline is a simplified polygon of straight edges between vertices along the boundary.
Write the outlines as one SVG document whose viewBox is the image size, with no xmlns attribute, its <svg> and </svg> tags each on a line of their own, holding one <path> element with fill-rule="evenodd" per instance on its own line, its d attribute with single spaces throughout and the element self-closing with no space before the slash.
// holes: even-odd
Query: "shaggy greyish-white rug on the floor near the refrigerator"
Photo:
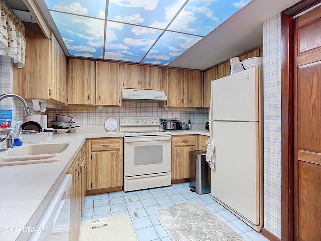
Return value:
<svg viewBox="0 0 321 241">
<path fill-rule="evenodd" d="M 245 241 L 199 202 L 186 202 L 154 210 L 172 241 Z"/>
</svg>

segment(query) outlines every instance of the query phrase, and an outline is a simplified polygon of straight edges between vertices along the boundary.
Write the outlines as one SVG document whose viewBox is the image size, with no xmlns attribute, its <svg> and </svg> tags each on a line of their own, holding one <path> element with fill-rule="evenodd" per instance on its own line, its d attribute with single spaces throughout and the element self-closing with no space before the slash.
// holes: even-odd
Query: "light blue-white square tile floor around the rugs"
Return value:
<svg viewBox="0 0 321 241">
<path fill-rule="evenodd" d="M 244 237 L 246 241 L 268 240 L 261 233 L 254 231 L 237 216 L 214 201 L 211 194 L 199 195 L 191 192 L 188 182 L 133 192 L 118 191 L 89 195 L 86 196 L 85 200 L 82 220 L 128 213 L 138 241 L 170 240 L 161 223 L 155 217 L 154 209 L 190 201 L 202 203 Z"/>
</svg>

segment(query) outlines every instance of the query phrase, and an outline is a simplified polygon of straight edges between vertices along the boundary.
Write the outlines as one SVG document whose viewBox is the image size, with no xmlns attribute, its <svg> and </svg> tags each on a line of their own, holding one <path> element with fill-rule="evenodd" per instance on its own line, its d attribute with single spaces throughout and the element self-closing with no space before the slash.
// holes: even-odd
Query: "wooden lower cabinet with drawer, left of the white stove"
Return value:
<svg viewBox="0 0 321 241">
<path fill-rule="evenodd" d="M 87 182 L 86 194 L 97 194 L 122 190 L 123 143 L 122 137 L 91 138 L 90 168 L 91 183 Z"/>
</svg>

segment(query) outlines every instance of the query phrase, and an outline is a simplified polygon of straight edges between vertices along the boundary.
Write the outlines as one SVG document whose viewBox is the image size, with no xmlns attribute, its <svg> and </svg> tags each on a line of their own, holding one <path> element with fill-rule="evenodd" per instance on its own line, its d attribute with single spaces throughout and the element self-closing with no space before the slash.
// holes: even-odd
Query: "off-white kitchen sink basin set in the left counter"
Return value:
<svg viewBox="0 0 321 241">
<path fill-rule="evenodd" d="M 63 153 L 70 145 L 61 143 L 34 143 L 13 147 L 1 152 L 0 166 L 57 162 L 63 158 Z"/>
</svg>

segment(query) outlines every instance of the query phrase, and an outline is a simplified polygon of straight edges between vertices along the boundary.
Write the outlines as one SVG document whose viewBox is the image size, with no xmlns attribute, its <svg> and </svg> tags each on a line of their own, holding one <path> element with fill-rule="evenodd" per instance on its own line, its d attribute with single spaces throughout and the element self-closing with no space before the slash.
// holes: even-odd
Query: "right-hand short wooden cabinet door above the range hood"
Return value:
<svg viewBox="0 0 321 241">
<path fill-rule="evenodd" d="M 144 89 L 162 90 L 163 68 L 144 66 Z"/>
</svg>

